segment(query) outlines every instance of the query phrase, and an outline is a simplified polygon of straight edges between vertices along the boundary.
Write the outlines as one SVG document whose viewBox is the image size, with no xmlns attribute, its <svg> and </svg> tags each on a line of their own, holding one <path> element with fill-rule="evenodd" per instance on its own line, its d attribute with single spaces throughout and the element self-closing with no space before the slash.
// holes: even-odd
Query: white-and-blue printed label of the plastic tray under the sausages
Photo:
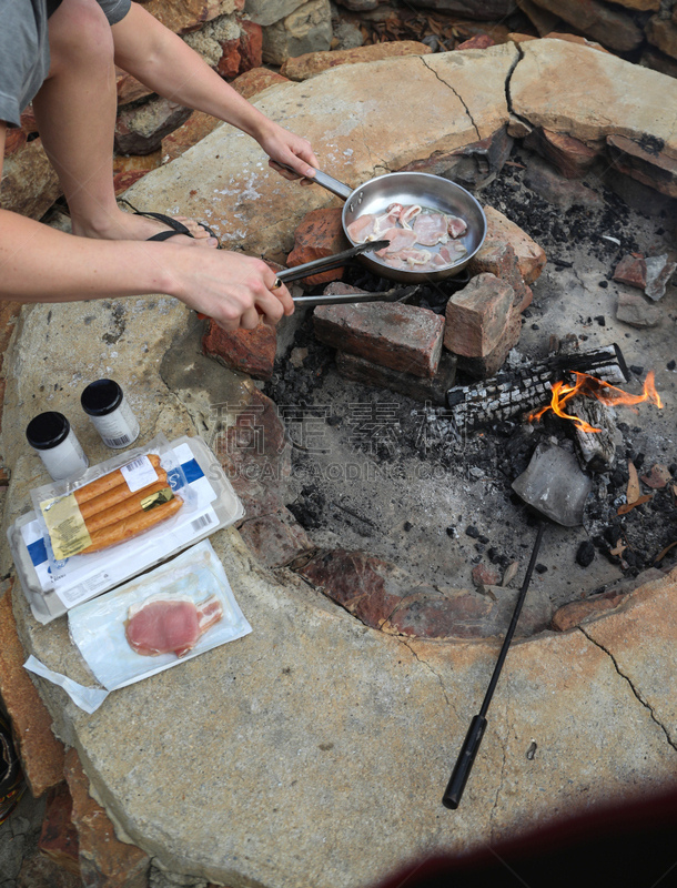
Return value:
<svg viewBox="0 0 677 888">
<path fill-rule="evenodd" d="M 169 482 L 180 496 L 188 498 L 190 494 L 194 504 L 191 508 L 184 506 L 178 513 L 176 522 L 171 528 L 156 527 L 128 541 L 124 546 L 115 546 L 91 555 L 77 555 L 68 559 L 63 573 L 49 569 L 49 555 L 39 521 L 36 518 L 21 528 L 42 592 L 54 592 L 67 608 L 73 607 L 140 573 L 149 564 L 155 564 L 159 561 L 160 545 L 164 552 L 171 554 L 209 535 L 219 526 L 219 516 L 211 505 L 218 494 L 205 477 L 189 444 L 178 445 L 173 448 L 173 454 L 183 470 L 189 490 L 182 492 L 183 478 L 176 468 L 168 472 Z M 150 463 L 150 460 L 148 462 Z M 150 465 L 153 468 L 152 463 Z M 154 468 L 153 474 L 156 477 Z"/>
</svg>

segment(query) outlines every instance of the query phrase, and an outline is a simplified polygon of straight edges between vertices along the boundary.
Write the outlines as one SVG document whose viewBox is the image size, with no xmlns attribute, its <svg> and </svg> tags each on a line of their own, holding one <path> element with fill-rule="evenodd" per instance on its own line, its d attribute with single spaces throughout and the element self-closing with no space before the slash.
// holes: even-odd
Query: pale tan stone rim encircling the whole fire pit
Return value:
<svg viewBox="0 0 677 888">
<path fill-rule="evenodd" d="M 674 81 L 552 40 L 340 68 L 256 103 L 309 137 L 347 182 L 439 159 L 505 127 L 521 138 L 525 121 L 600 143 L 648 135 L 663 170 L 677 161 Z M 277 261 L 300 220 L 331 204 L 326 192 L 283 182 L 226 127 L 130 198 L 204 218 L 225 243 Z M 108 455 L 78 406 L 93 379 L 127 381 L 143 440 L 159 431 L 214 438 L 219 423 L 232 424 L 218 405 L 246 403 L 255 386 L 204 357 L 199 336 L 194 314 L 161 296 L 26 309 L 6 359 L 6 524 L 42 480 L 23 442 L 32 415 L 63 411 L 91 462 Z M 36 355 L 49 361 L 49 387 Z M 666 373 L 659 383 L 669 386 Z M 498 642 L 368 628 L 292 571 L 263 567 L 235 528 L 212 543 L 250 636 L 114 693 L 91 716 L 38 680 L 120 835 L 158 866 L 231 888 L 356 888 L 414 859 L 674 783 L 677 572 L 603 619 L 514 647 L 463 805 L 449 813 L 442 793 Z M 11 569 L 7 552 L 2 569 Z M 63 618 L 38 626 L 18 584 L 13 608 L 28 652 L 92 683 Z"/>
</svg>

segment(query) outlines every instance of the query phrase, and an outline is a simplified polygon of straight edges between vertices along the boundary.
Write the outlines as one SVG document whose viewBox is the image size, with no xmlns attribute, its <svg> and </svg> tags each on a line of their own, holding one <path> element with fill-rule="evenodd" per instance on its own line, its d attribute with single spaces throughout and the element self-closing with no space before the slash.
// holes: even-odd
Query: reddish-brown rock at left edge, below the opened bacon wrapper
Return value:
<svg viewBox="0 0 677 888">
<path fill-rule="evenodd" d="M 52 734 L 52 719 L 23 668 L 26 653 L 17 634 L 12 594 L 23 594 L 13 579 L 0 587 L 0 694 L 12 719 L 23 775 L 37 798 L 63 780 L 63 744 Z"/>
</svg>

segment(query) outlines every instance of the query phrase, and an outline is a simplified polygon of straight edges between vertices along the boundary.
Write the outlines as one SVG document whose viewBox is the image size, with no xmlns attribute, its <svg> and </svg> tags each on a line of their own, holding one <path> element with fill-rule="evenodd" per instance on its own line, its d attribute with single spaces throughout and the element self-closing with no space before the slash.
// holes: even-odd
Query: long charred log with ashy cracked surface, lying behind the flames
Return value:
<svg viewBox="0 0 677 888">
<path fill-rule="evenodd" d="M 549 401 L 553 385 L 566 374 L 587 373 L 612 385 L 629 380 L 623 353 L 615 343 L 578 354 L 552 355 L 526 367 L 506 370 L 473 385 L 456 385 L 446 393 L 446 414 L 456 428 L 473 431 L 511 420 Z"/>
</svg>

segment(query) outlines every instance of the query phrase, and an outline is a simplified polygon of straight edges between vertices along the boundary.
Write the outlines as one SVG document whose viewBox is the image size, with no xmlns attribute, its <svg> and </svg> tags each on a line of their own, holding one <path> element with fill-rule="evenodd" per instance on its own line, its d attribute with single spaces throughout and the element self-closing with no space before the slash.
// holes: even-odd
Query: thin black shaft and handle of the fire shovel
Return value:
<svg viewBox="0 0 677 888">
<path fill-rule="evenodd" d="M 532 574 L 534 573 L 536 558 L 538 557 L 538 549 L 540 548 L 540 541 L 543 538 L 544 531 L 545 531 L 545 522 L 542 521 L 538 524 L 538 534 L 536 535 L 536 542 L 534 543 L 534 551 L 532 552 L 529 566 L 526 568 L 526 576 L 524 577 L 524 583 L 522 584 L 522 588 L 519 589 L 519 595 L 517 596 L 517 604 L 515 605 L 515 610 L 513 612 L 513 618 L 511 619 L 511 625 L 508 626 L 508 630 L 503 640 L 501 654 L 498 655 L 498 659 L 496 662 L 496 665 L 494 666 L 492 680 L 489 682 L 489 686 L 487 687 L 486 694 L 484 695 L 482 708 L 479 709 L 479 713 L 476 716 L 474 716 L 473 720 L 471 722 L 468 733 L 465 735 L 465 740 L 463 741 L 463 746 L 461 747 L 461 751 L 458 753 L 458 758 L 456 759 L 456 765 L 454 766 L 452 778 L 448 781 L 444 796 L 442 797 L 442 804 L 445 806 L 445 808 L 451 808 L 452 810 L 456 810 L 456 808 L 461 804 L 461 798 L 463 796 L 463 790 L 465 789 L 467 778 L 471 776 L 471 770 L 473 769 L 473 765 L 475 763 L 475 756 L 477 755 L 477 750 L 479 749 L 479 744 L 482 743 L 482 738 L 484 737 L 484 730 L 486 728 L 486 714 L 489 708 L 492 697 L 494 696 L 494 690 L 496 689 L 496 684 L 498 683 L 498 676 L 501 675 L 501 670 L 503 669 L 503 664 L 505 663 L 508 647 L 511 646 L 511 642 L 513 640 L 513 635 L 515 634 L 515 629 L 517 627 L 517 620 L 519 619 L 519 614 L 522 613 L 522 605 L 524 604 L 526 592 L 529 587 L 529 583 L 532 582 Z"/>
</svg>

